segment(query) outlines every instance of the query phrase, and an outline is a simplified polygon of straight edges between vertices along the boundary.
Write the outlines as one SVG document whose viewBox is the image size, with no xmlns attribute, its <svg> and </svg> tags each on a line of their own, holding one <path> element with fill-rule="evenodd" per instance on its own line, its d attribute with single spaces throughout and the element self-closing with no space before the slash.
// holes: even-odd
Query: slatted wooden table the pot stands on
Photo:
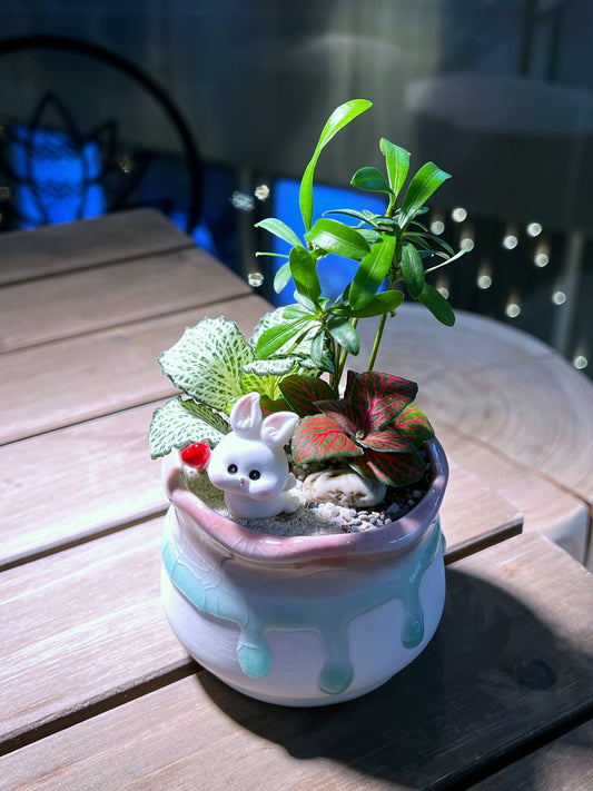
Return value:
<svg viewBox="0 0 593 791">
<path fill-rule="evenodd" d="M 591 787 L 593 579 L 517 535 L 472 455 L 502 451 L 445 412 L 448 589 L 421 657 L 339 706 L 251 701 L 164 617 L 147 427 L 171 394 L 156 358 L 185 326 L 225 314 L 249 333 L 266 304 L 146 210 L 0 237 L 0 789 Z"/>
</svg>

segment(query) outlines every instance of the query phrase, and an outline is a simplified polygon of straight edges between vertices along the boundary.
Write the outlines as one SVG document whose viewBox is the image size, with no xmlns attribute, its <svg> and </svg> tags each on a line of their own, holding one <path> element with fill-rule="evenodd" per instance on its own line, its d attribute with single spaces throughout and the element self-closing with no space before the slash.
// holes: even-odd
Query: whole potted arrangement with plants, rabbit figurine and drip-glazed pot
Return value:
<svg viewBox="0 0 593 791">
<path fill-rule="evenodd" d="M 159 360 L 181 390 L 150 426 L 171 503 L 168 620 L 202 666 L 286 705 L 348 700 L 385 682 L 426 646 L 445 596 L 446 458 L 414 405 L 416 384 L 374 365 L 406 293 L 454 322 L 426 275 L 456 255 L 419 219 L 448 175 L 427 162 L 404 189 L 409 155 L 382 139 L 386 177 L 364 167 L 352 184 L 383 194 L 385 211 L 314 221 L 319 155 L 369 107 L 346 102 L 323 129 L 300 184 L 304 237 L 278 219 L 258 224 L 288 243 L 275 288 L 291 278 L 295 303 L 263 316 L 249 339 L 224 317 L 205 318 Z M 330 253 L 356 263 L 335 299 L 317 271 Z M 356 327 L 372 317 L 370 359 L 355 372 Z"/>
</svg>

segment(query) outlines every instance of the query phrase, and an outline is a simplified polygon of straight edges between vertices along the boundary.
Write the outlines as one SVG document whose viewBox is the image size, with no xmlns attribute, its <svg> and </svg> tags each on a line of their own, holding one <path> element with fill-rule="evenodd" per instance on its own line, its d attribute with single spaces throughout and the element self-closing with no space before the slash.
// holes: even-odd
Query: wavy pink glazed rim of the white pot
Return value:
<svg viewBox="0 0 593 791">
<path fill-rule="evenodd" d="M 417 544 L 438 514 L 448 479 L 448 464 L 441 443 L 425 443 L 433 477 L 422 501 L 405 516 L 383 527 L 364 533 L 333 533 L 328 535 L 275 536 L 244 527 L 210 508 L 190 492 L 186 484 L 178 453 L 164 459 L 162 485 L 175 507 L 197 522 L 204 533 L 219 548 L 230 555 L 240 555 L 253 563 L 287 563 L 290 565 L 316 560 L 332 562 L 356 554 L 378 560 L 377 555 L 399 555 Z"/>
</svg>

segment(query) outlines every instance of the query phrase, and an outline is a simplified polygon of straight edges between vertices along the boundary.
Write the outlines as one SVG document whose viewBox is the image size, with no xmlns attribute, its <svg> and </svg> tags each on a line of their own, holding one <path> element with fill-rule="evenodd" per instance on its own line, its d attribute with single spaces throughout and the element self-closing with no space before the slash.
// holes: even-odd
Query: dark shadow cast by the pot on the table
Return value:
<svg viewBox="0 0 593 791">
<path fill-rule="evenodd" d="M 447 585 L 427 649 L 358 700 L 288 709 L 246 698 L 209 673 L 197 678 L 243 728 L 296 759 L 335 761 L 318 770 L 328 778 L 343 764 L 406 788 L 468 787 L 582 716 L 593 657 L 498 587 L 456 570 Z"/>
</svg>

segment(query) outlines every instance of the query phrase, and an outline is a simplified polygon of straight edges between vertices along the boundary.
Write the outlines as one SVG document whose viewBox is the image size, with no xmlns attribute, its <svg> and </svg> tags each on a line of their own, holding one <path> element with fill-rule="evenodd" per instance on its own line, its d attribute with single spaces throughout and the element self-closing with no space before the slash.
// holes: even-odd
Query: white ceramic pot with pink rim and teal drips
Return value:
<svg viewBox="0 0 593 791">
<path fill-rule="evenodd" d="M 409 664 L 445 600 L 448 468 L 436 439 L 426 447 L 431 485 L 408 514 L 364 533 L 294 537 L 211 510 L 170 454 L 162 600 L 187 651 L 236 690 L 293 706 L 357 698 Z"/>
</svg>

